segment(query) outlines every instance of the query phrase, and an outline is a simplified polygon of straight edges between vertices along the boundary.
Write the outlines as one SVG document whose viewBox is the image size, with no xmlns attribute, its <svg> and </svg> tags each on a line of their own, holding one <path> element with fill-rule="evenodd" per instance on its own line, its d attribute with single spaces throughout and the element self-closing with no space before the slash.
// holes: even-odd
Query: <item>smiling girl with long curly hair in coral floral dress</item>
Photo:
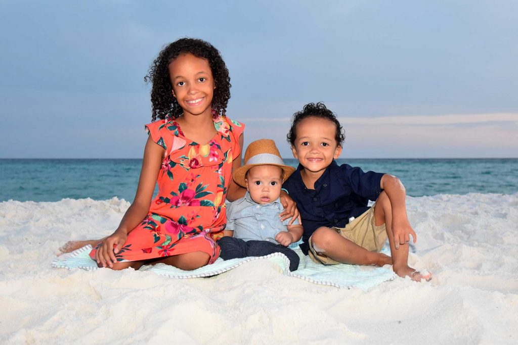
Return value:
<svg viewBox="0 0 518 345">
<path fill-rule="evenodd" d="M 135 200 L 113 234 L 69 242 L 61 251 L 91 245 L 90 257 L 112 269 L 155 263 L 196 269 L 219 257 L 225 198 L 244 194 L 232 180 L 241 166 L 244 125 L 226 117 L 228 69 L 208 42 L 170 43 L 145 81 L 152 83 L 153 122 L 145 126 L 149 138 Z M 151 200 L 155 184 L 159 192 Z M 294 216 L 293 201 L 286 203 L 285 218 Z"/>
</svg>

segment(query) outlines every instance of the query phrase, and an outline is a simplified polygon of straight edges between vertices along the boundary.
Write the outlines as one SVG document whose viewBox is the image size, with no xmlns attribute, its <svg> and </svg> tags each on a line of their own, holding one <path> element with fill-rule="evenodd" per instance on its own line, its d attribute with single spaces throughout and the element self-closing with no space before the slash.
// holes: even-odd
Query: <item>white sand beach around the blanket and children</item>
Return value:
<svg viewBox="0 0 518 345">
<path fill-rule="evenodd" d="M 410 263 L 368 292 L 287 277 L 266 260 L 208 279 L 50 266 L 111 233 L 128 203 L 0 203 L 0 343 L 517 343 L 518 193 L 408 198 Z"/>
</svg>

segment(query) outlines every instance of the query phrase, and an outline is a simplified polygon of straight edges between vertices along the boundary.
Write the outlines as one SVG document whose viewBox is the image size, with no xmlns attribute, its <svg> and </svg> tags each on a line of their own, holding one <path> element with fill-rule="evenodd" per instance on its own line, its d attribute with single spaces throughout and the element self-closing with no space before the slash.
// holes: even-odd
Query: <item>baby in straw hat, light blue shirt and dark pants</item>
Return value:
<svg viewBox="0 0 518 345">
<path fill-rule="evenodd" d="M 299 257 L 287 248 L 298 242 L 303 228 L 295 219 L 280 220 L 283 211 L 280 203 L 282 183 L 293 173 L 286 166 L 273 140 L 256 140 L 247 147 L 244 166 L 237 169 L 234 181 L 247 188 L 247 193 L 227 208 L 225 236 L 218 241 L 224 260 L 260 257 L 283 253 L 290 260 L 290 271 L 298 268 Z"/>
</svg>

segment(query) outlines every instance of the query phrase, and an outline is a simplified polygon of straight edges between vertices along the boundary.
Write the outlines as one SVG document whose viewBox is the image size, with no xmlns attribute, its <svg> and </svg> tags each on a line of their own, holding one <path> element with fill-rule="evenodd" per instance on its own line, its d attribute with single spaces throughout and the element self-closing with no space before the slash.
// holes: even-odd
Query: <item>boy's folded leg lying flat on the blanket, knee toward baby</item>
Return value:
<svg viewBox="0 0 518 345">
<path fill-rule="evenodd" d="M 368 251 L 327 227 L 316 229 L 310 241 L 316 252 L 338 262 L 380 267 L 392 263 L 391 257 L 376 251 Z"/>
</svg>

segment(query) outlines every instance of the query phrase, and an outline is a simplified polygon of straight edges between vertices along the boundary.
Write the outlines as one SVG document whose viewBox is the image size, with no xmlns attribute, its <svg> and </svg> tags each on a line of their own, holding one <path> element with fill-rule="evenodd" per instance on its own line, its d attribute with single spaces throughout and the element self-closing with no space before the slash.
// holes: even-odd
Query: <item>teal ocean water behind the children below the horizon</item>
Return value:
<svg viewBox="0 0 518 345">
<path fill-rule="evenodd" d="M 285 159 L 297 166 L 295 159 Z M 390 173 L 412 197 L 518 192 L 518 159 L 338 159 Z M 0 201 L 63 198 L 132 201 L 141 159 L 0 159 Z"/>
</svg>

